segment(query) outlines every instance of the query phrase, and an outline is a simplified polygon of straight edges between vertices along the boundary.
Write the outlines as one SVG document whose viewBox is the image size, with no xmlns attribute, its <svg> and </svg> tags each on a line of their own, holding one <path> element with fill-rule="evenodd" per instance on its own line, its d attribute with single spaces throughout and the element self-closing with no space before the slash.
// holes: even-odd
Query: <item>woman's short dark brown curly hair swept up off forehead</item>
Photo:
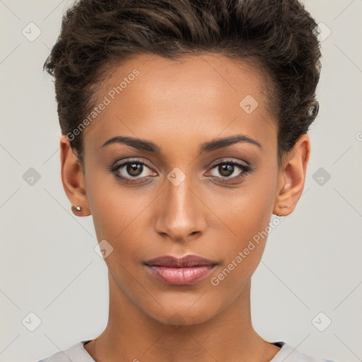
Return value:
<svg viewBox="0 0 362 362">
<path fill-rule="evenodd" d="M 269 79 L 280 166 L 318 112 L 317 35 L 315 20 L 298 0 L 78 0 L 64 13 L 43 69 L 54 76 L 65 135 L 94 107 L 112 66 L 137 54 L 178 59 L 214 52 L 250 62 Z M 81 136 L 71 148 L 83 165 Z"/>
</svg>

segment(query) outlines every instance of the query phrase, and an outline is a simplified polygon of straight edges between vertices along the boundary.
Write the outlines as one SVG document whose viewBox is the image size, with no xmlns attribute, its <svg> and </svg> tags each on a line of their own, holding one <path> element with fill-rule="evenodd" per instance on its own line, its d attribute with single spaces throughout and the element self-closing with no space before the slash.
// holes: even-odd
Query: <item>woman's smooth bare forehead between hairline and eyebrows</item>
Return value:
<svg viewBox="0 0 362 362">
<path fill-rule="evenodd" d="M 274 129 L 267 88 L 259 69 L 220 54 L 178 60 L 141 54 L 104 81 L 98 103 L 107 105 L 83 136 L 100 145 L 118 134 L 180 140 L 244 131 L 262 141 Z"/>
</svg>

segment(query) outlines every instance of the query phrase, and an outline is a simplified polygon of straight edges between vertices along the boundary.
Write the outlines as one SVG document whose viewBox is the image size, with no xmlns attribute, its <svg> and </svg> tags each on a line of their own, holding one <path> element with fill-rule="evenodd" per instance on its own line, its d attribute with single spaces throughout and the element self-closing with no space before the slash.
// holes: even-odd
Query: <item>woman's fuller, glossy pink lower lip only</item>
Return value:
<svg viewBox="0 0 362 362">
<path fill-rule="evenodd" d="M 165 284 L 173 284 L 175 286 L 183 286 L 194 284 L 206 278 L 216 265 L 202 265 L 200 267 L 188 268 L 171 268 L 171 267 L 156 267 L 146 265 L 152 275 L 159 281 Z"/>
</svg>

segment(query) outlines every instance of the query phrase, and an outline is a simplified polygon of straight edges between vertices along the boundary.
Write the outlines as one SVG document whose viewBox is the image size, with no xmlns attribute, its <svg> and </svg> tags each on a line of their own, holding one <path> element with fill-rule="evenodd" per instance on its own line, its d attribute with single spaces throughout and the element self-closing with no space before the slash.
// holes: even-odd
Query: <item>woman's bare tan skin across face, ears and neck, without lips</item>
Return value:
<svg viewBox="0 0 362 362">
<path fill-rule="evenodd" d="M 223 281 L 218 276 L 265 230 L 271 215 L 291 214 L 303 192 L 310 139 L 300 136 L 277 168 L 276 120 L 266 107 L 267 80 L 258 69 L 216 54 L 173 62 L 141 54 L 100 87 L 100 98 L 133 69 L 134 81 L 83 131 L 84 170 L 65 136 L 60 140 L 62 182 L 78 216 L 93 216 L 95 232 L 113 251 L 105 258 L 110 286 L 107 327 L 85 345 L 101 361 L 269 361 L 280 350 L 255 332 L 250 315 L 250 278 L 267 238 Z M 259 103 L 247 114 L 245 95 Z M 262 148 L 238 142 L 199 153 L 203 142 L 235 134 Z M 125 144 L 101 147 L 114 136 L 152 141 L 159 154 Z M 110 168 L 139 158 L 151 166 L 137 182 L 117 179 Z M 218 163 L 250 163 L 245 177 L 235 166 L 229 174 Z M 173 185 L 168 174 L 180 168 L 186 178 Z M 146 176 L 151 176 L 146 179 Z M 223 183 L 229 179 L 228 183 Z M 283 207 L 285 206 L 285 207 Z M 147 259 L 160 255 L 199 255 L 218 263 L 191 286 L 163 284 L 148 273 Z"/>
</svg>

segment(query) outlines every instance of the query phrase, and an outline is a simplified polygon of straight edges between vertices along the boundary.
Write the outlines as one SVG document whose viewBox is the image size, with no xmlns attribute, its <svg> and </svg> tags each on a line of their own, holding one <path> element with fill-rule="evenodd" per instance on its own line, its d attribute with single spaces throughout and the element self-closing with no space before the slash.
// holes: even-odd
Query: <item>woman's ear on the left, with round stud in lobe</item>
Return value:
<svg viewBox="0 0 362 362">
<path fill-rule="evenodd" d="M 86 182 L 81 163 L 71 148 L 69 140 L 60 138 L 60 163 L 64 191 L 72 206 L 81 206 L 81 211 L 72 210 L 77 216 L 91 215 L 86 197 Z"/>
</svg>

